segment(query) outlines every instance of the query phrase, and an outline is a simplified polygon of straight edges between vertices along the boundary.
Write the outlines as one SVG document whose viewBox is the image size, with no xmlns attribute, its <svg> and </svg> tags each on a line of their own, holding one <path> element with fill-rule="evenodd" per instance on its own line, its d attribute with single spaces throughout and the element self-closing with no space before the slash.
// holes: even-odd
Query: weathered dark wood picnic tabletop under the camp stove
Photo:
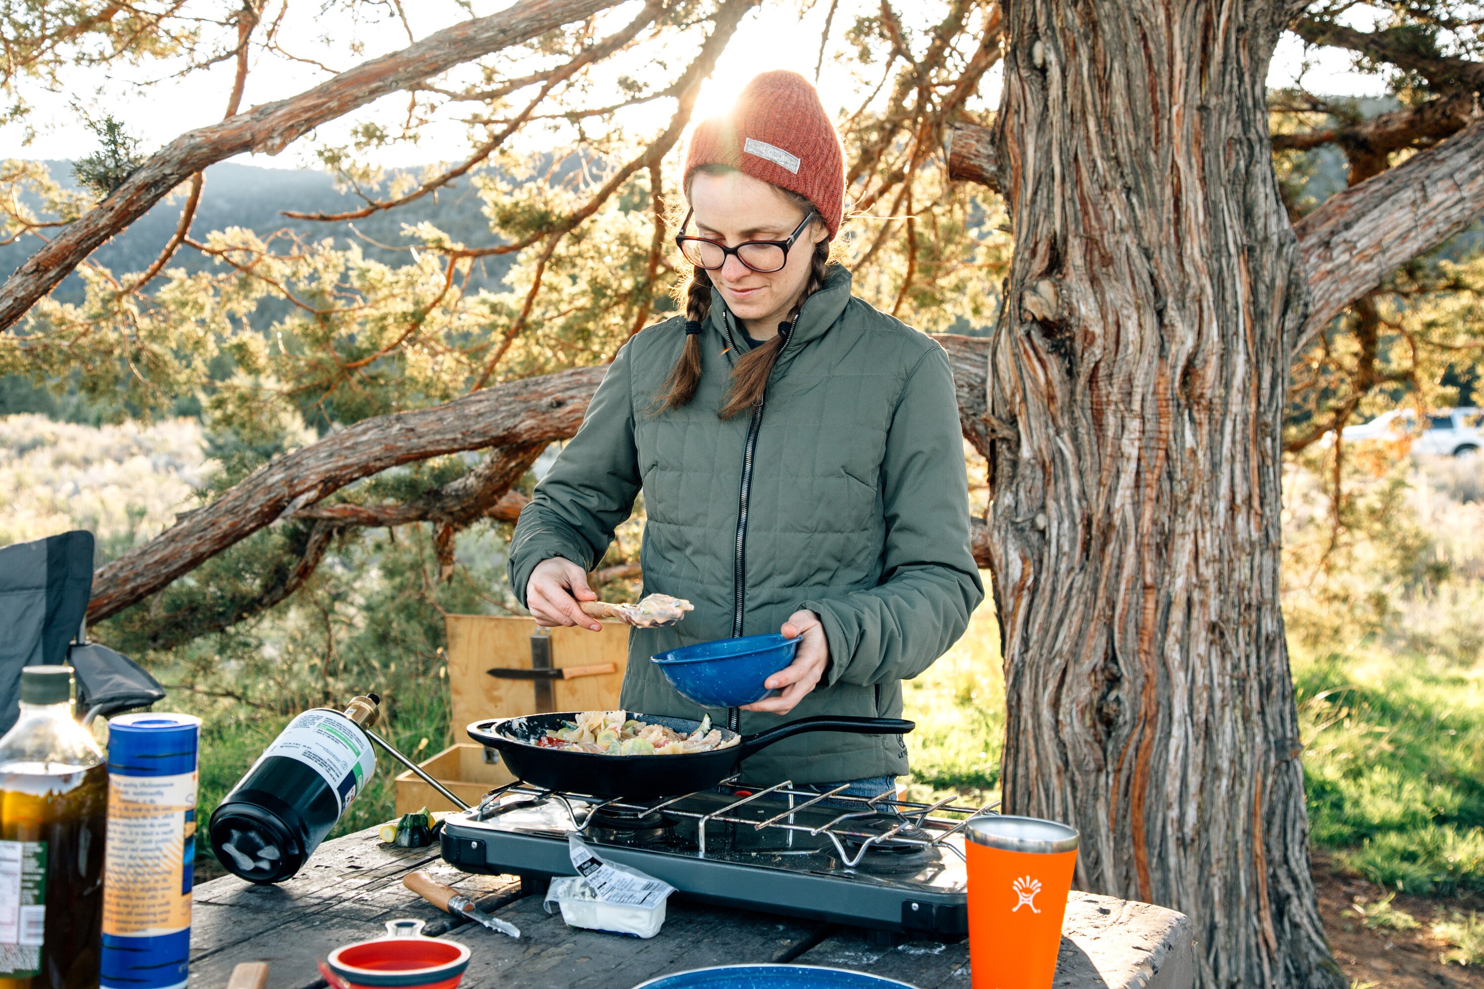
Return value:
<svg viewBox="0 0 1484 989">
<path fill-rule="evenodd" d="M 402 885 L 416 869 L 475 897 L 521 928 L 515 940 L 432 907 Z M 687 968 L 797 962 L 855 968 L 920 989 L 969 989 L 968 942 L 873 945 L 858 928 L 687 903 L 671 897 L 650 940 L 568 928 L 513 876 L 472 876 L 435 848 L 383 845 L 368 829 L 322 845 L 297 876 L 260 887 L 234 876 L 196 887 L 190 989 L 221 989 L 237 962 L 269 962 L 269 989 L 324 986 L 316 962 L 332 947 L 380 937 L 393 918 L 473 950 L 460 989 L 629 989 Z M 1073 893 L 1063 927 L 1057 989 L 1187 989 L 1192 925 L 1183 913 Z"/>
</svg>

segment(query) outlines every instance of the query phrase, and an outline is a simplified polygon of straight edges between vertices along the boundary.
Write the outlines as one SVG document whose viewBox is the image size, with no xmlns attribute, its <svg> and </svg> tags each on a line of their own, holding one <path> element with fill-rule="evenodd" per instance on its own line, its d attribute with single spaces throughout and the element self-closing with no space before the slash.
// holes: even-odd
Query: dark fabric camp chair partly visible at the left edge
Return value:
<svg viewBox="0 0 1484 989">
<path fill-rule="evenodd" d="M 0 549 L 0 732 L 21 715 L 25 666 L 70 663 L 83 724 L 165 698 L 165 688 L 138 663 L 86 641 L 92 566 L 92 532 Z"/>
</svg>

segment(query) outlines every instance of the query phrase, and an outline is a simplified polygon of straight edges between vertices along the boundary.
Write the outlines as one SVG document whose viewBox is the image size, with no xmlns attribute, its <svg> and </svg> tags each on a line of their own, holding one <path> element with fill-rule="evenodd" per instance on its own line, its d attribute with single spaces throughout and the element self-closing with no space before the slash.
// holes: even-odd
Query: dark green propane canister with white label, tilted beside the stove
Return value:
<svg viewBox="0 0 1484 989">
<path fill-rule="evenodd" d="M 217 861 L 249 882 L 298 872 L 375 773 L 371 738 L 381 698 L 344 712 L 316 707 L 288 724 L 211 816 Z"/>
</svg>

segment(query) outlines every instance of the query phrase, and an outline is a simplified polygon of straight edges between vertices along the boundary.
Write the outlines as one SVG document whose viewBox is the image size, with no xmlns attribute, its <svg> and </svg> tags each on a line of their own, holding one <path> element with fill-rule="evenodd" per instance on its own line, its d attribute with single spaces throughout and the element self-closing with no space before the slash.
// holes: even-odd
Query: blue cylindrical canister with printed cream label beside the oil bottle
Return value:
<svg viewBox="0 0 1484 989">
<path fill-rule="evenodd" d="M 102 989 L 180 989 L 190 959 L 200 718 L 108 722 Z"/>
</svg>

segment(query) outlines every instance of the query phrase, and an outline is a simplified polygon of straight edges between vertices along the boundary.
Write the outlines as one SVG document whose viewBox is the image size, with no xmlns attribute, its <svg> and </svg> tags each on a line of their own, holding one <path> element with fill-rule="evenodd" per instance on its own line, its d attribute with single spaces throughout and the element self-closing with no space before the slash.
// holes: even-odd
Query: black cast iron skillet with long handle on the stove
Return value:
<svg viewBox="0 0 1484 989">
<path fill-rule="evenodd" d="M 659 715 L 637 715 L 634 721 L 650 725 L 665 725 L 684 735 L 700 727 L 689 718 L 662 718 Z M 800 718 L 778 728 L 742 735 L 742 741 L 714 752 L 686 752 L 660 756 L 608 756 L 597 752 L 564 752 L 542 749 L 537 738 L 562 722 L 577 721 L 577 712 L 555 715 L 524 715 L 476 721 L 469 725 L 469 737 L 500 752 L 500 758 L 518 778 L 533 786 L 594 796 L 628 796 L 649 799 L 706 790 L 738 771 L 738 764 L 749 755 L 766 749 L 775 741 L 806 731 L 850 731 L 865 735 L 905 735 L 916 722 L 898 718 L 843 718 L 819 715 Z M 735 738 L 735 731 L 720 728 L 723 741 Z"/>
</svg>

